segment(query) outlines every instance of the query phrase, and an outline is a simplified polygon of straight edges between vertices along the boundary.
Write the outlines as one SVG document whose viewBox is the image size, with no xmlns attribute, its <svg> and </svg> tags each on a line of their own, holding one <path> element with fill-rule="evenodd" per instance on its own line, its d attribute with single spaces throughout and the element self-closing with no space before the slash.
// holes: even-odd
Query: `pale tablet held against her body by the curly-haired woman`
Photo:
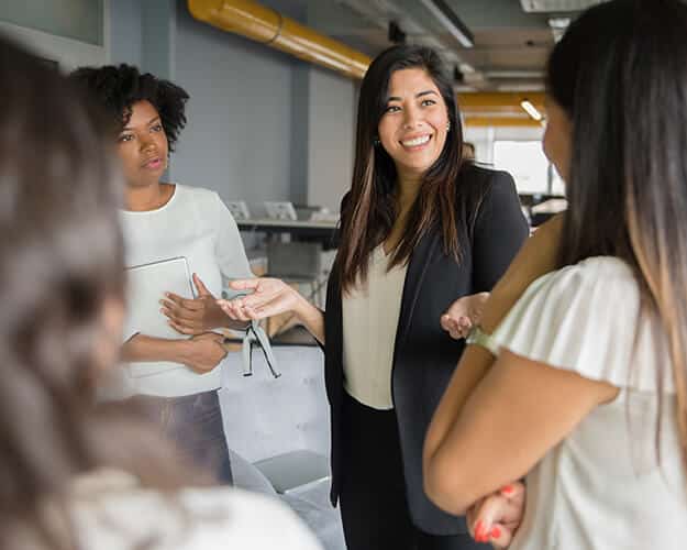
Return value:
<svg viewBox="0 0 687 550">
<path fill-rule="evenodd" d="M 168 324 L 160 311 L 165 293 L 193 298 L 186 257 L 170 257 L 126 268 L 126 327 L 155 338 L 188 338 Z"/>
</svg>

